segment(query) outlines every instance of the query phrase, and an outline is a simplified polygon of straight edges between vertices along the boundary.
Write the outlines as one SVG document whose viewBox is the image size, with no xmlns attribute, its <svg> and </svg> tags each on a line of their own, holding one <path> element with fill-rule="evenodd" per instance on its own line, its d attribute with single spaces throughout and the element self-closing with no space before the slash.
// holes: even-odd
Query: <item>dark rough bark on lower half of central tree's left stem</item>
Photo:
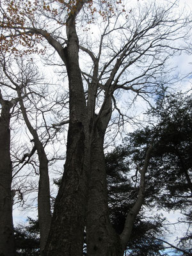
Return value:
<svg viewBox="0 0 192 256">
<path fill-rule="evenodd" d="M 70 124 L 65 170 L 54 206 L 46 255 L 82 256 L 87 191 L 85 144 L 83 124 Z"/>
</svg>

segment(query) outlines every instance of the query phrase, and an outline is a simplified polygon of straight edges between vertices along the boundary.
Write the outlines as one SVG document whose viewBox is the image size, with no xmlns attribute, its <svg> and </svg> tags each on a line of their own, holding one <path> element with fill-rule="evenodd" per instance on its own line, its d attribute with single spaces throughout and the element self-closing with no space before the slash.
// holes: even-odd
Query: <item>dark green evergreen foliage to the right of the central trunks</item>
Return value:
<svg viewBox="0 0 192 256">
<path fill-rule="evenodd" d="M 170 95 L 161 99 L 161 102 L 157 102 L 157 107 L 150 111 L 153 119 L 154 117 L 158 117 L 158 129 L 157 127 L 154 129 L 154 126 L 152 126 L 147 127 L 144 130 L 142 129 L 132 132 L 128 135 L 130 138 L 126 138 L 123 146 L 117 147 L 112 152 L 106 154 L 105 162 L 108 180 L 109 217 L 113 228 L 118 234 L 121 234 L 124 229 L 127 212 L 132 205 L 134 205 L 134 200 L 136 200 L 138 190 L 136 184 L 139 180 L 138 164 L 142 165 L 143 158 L 141 156 L 143 156 L 143 145 L 145 145 L 147 141 L 150 141 L 150 136 L 152 136 L 153 133 L 156 134 L 156 143 L 154 143 L 152 161 L 150 161 L 148 168 L 150 173 L 153 170 L 155 170 L 155 172 L 150 175 L 149 180 L 146 182 L 147 189 L 145 191 L 145 202 L 143 205 L 145 205 L 145 207 L 159 204 L 166 205 L 169 210 L 183 208 L 180 207 L 180 202 L 179 204 L 175 202 L 175 196 L 182 195 L 182 198 L 184 198 L 184 193 L 186 193 L 185 186 L 180 186 L 180 194 L 173 195 L 173 193 L 167 193 L 167 195 L 170 195 L 168 199 L 166 198 L 166 191 L 164 191 L 164 188 L 169 188 L 170 184 L 172 184 L 172 187 L 176 186 L 176 188 L 178 188 L 178 181 L 175 179 L 176 182 L 173 182 L 171 172 L 172 169 L 174 172 L 177 169 L 182 172 L 182 169 L 180 169 L 180 162 L 175 161 L 175 159 L 177 159 L 177 157 L 175 157 L 176 147 L 172 147 L 175 140 L 177 140 L 177 148 L 180 148 L 183 145 L 185 146 L 180 148 L 180 155 L 185 157 L 185 163 L 190 163 L 191 154 L 187 153 L 190 152 L 188 149 L 191 145 L 190 106 L 191 95 L 187 97 L 180 94 Z M 174 161 L 171 160 L 172 158 Z M 170 160 L 168 161 L 168 159 Z M 159 163 L 159 161 L 161 163 Z M 133 164 L 136 164 L 136 168 L 134 168 Z M 156 166 L 154 166 L 154 164 L 156 164 Z M 175 165 L 173 166 L 173 164 Z M 190 166 L 191 164 L 188 165 L 188 170 L 190 169 Z M 164 176 L 162 175 L 161 179 L 159 177 L 155 179 L 155 181 L 157 180 L 157 183 L 154 182 L 154 176 L 160 175 L 161 172 L 164 172 Z M 170 172 L 170 175 L 168 175 L 168 172 Z M 180 177 L 180 172 L 175 172 L 176 177 Z M 150 182 L 150 179 L 153 180 L 153 184 Z M 185 181 L 187 181 L 187 179 L 180 177 L 180 182 L 184 183 Z M 56 184 L 60 186 L 61 179 L 56 180 Z M 161 189 L 164 191 L 164 195 L 161 196 L 160 200 L 158 196 L 155 196 L 156 200 L 154 200 L 152 192 L 156 186 L 158 186 L 157 189 L 159 189 L 159 191 Z M 184 189 L 184 191 L 181 191 L 181 189 Z M 158 194 L 156 193 L 156 195 Z M 189 200 L 189 196 L 187 196 L 186 199 Z M 168 202 L 171 202 L 172 200 L 175 202 L 175 205 L 174 202 L 168 204 Z M 184 199 L 182 200 L 182 204 L 184 204 Z M 186 205 L 191 204 L 188 202 Z M 187 221 L 190 221 L 189 216 L 190 214 L 188 215 Z M 190 252 L 184 250 L 184 248 L 182 249 L 182 247 L 174 246 L 162 239 L 163 233 L 161 228 L 163 227 L 163 220 L 157 218 L 157 216 L 155 216 L 155 218 L 156 221 L 154 222 L 147 220 L 145 212 L 140 211 L 140 214 L 138 214 L 134 221 L 131 240 L 127 244 L 129 254 L 149 255 L 150 253 L 150 255 L 166 255 L 163 252 L 159 252 L 159 250 L 164 249 L 163 243 L 165 243 L 177 250 L 175 253 L 182 252 L 184 255 L 189 255 Z M 35 223 L 36 222 L 31 221 L 31 224 L 33 224 L 31 225 L 29 222 L 31 228 L 27 226 L 26 231 L 31 230 L 33 233 L 33 226 Z M 189 231 L 190 230 L 188 230 L 188 232 Z M 191 234 L 189 233 L 186 237 L 182 238 L 182 241 L 186 243 L 187 239 L 190 239 L 190 236 Z M 28 234 L 26 234 L 25 237 L 28 237 Z"/>
</svg>

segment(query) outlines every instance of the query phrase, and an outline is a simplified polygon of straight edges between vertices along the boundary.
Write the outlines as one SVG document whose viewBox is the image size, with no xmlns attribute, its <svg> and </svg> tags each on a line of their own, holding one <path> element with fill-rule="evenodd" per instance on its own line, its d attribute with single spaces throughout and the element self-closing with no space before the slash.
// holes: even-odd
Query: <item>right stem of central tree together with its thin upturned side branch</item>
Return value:
<svg viewBox="0 0 192 256">
<path fill-rule="evenodd" d="M 134 220 L 141 209 L 145 192 L 145 173 L 152 144 L 148 147 L 145 163 L 141 170 L 138 198 L 131 211 L 127 212 L 124 231 L 118 236 L 109 221 L 106 170 L 104 161 L 104 134 L 111 117 L 111 97 L 106 93 L 99 116 L 93 122 L 90 147 L 91 168 L 89 178 L 88 209 L 86 212 L 86 233 L 88 256 L 123 256 L 131 237 Z M 153 141 L 152 141 L 153 143 Z"/>
</svg>

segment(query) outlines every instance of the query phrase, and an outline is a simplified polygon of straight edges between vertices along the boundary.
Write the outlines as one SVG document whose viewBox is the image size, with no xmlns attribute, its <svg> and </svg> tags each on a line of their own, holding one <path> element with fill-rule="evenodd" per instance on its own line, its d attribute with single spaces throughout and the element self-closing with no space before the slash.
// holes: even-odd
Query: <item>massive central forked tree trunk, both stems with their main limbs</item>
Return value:
<svg viewBox="0 0 192 256">
<path fill-rule="evenodd" d="M 124 254 L 122 239 L 115 233 L 109 222 L 103 152 L 104 134 L 111 118 L 111 97 L 114 89 L 111 83 L 120 61 L 116 62 L 105 85 L 104 104 L 95 120 L 94 97 L 96 97 L 97 83 L 92 84 L 92 90 L 89 88 L 88 106 L 86 106 L 79 68 L 76 15 L 84 3 L 85 1 L 77 1 L 75 11 L 68 15 L 66 22 L 68 40 L 67 47 L 64 49 L 49 33 L 42 29 L 34 29 L 35 33 L 47 39 L 65 63 L 69 86 L 70 121 L 67 157 L 45 247 L 46 256 L 82 256 L 85 218 L 88 256 L 122 256 Z M 97 65 L 97 60 L 95 61 Z M 95 73 L 93 75 L 97 77 Z M 130 223 L 132 225 L 131 221 Z"/>
</svg>

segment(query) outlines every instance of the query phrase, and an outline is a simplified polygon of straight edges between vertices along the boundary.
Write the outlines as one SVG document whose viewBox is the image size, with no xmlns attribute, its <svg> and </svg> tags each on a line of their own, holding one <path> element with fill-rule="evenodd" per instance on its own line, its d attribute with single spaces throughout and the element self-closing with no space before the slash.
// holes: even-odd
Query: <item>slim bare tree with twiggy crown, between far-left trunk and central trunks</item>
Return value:
<svg viewBox="0 0 192 256">
<path fill-rule="evenodd" d="M 6 95 L 6 98 L 8 99 L 10 98 L 10 95 L 17 95 L 16 101 L 19 102 L 20 104 L 20 106 L 18 106 L 20 111 L 18 111 L 17 116 L 23 119 L 24 122 L 26 123 L 26 126 L 28 127 L 29 132 L 31 132 L 31 135 L 32 135 L 31 144 L 34 143 L 33 148 L 31 149 L 31 152 L 24 152 L 24 153 L 19 152 L 17 156 L 15 155 L 13 156 L 17 159 L 17 164 L 15 164 L 15 166 L 13 164 L 12 166 L 12 170 L 16 169 L 16 172 L 12 172 L 12 177 L 13 178 L 16 177 L 17 179 L 18 173 L 20 175 L 20 173 L 22 172 L 22 168 L 24 168 L 26 164 L 31 163 L 32 165 L 32 156 L 35 154 L 36 151 L 38 154 L 38 161 L 35 160 L 34 163 L 37 166 L 36 168 L 38 169 L 37 172 L 40 174 L 39 189 L 38 189 L 38 218 L 40 221 L 40 233 L 41 233 L 40 247 L 41 247 L 41 250 L 43 250 L 45 243 L 47 241 L 49 227 L 51 224 L 48 164 L 52 161 L 52 159 L 49 159 L 49 160 L 47 159 L 44 148 L 49 143 L 50 140 L 52 141 L 54 140 L 54 136 L 55 136 L 55 132 L 49 131 L 51 127 L 47 127 L 47 124 L 45 121 L 45 115 L 46 113 L 50 113 L 51 115 L 50 108 L 54 106 L 54 102 L 51 102 L 52 106 L 50 107 L 49 106 L 50 102 L 45 102 L 45 97 L 46 97 L 45 90 L 43 89 L 42 92 L 40 92 L 40 90 L 36 90 L 39 84 L 41 84 L 42 79 L 38 75 L 38 71 L 35 68 L 35 65 L 31 63 L 31 61 L 29 60 L 24 61 L 22 58 L 20 58 L 20 60 L 15 61 L 12 58 L 12 56 L 8 54 L 3 54 L 2 52 L 0 62 L 1 62 L 1 71 L 2 71 L 1 83 L 0 83 L 1 88 L 3 88 L 4 95 Z M 33 104 L 35 105 L 35 109 L 31 109 L 31 106 Z M 46 104 L 46 109 L 45 109 L 45 104 Z M 27 108 L 25 105 L 27 106 Z M 39 112 L 42 113 L 43 120 L 40 119 Z M 38 126 L 39 124 L 37 124 L 37 122 L 36 123 L 34 122 L 36 118 L 35 115 L 38 116 L 39 124 L 40 122 L 44 123 L 43 134 L 41 134 L 42 129 L 41 127 Z M 50 115 L 49 115 L 49 118 L 50 118 Z M 19 118 L 17 118 L 15 122 L 18 123 Z M 35 128 L 33 128 L 32 124 L 34 125 Z M 15 136 L 15 134 L 12 134 L 12 136 Z M 26 150 L 26 148 L 24 148 L 24 150 Z M 52 152 L 52 156 L 54 158 L 56 157 L 56 154 Z M 13 157 L 12 157 L 12 160 L 13 160 Z M 38 166 L 38 163 L 39 163 L 39 166 Z M 24 200 L 23 198 L 24 196 L 22 195 L 22 192 L 21 192 L 23 182 L 20 182 L 19 180 L 19 182 L 17 181 L 16 185 L 14 183 L 15 182 L 12 183 L 12 188 L 13 188 L 12 191 L 14 191 L 14 193 L 19 191 L 20 196 L 22 196 L 22 200 Z M 21 187 L 21 188 L 19 189 L 18 187 Z M 12 198 L 12 201 L 13 201 L 13 198 Z"/>
</svg>

